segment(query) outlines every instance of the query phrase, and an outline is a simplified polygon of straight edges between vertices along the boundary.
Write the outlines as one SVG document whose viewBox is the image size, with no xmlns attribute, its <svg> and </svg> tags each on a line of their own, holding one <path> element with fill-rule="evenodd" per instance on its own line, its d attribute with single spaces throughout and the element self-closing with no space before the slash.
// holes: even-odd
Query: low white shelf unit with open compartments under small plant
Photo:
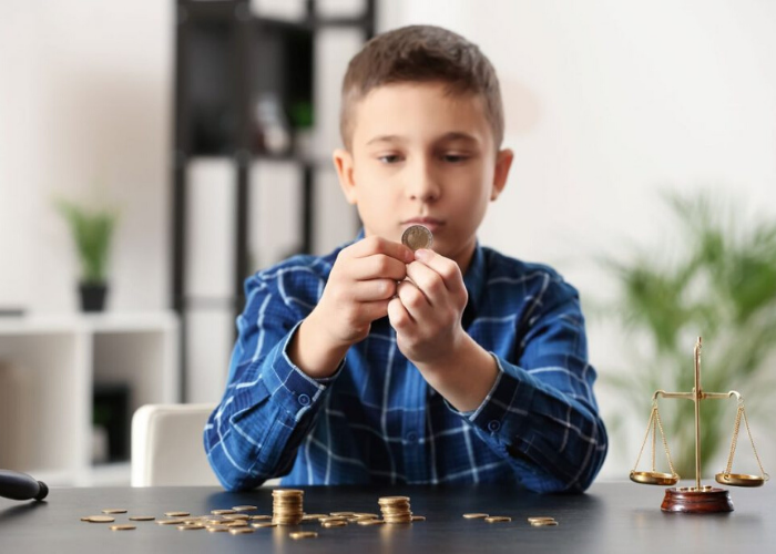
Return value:
<svg viewBox="0 0 776 554">
<path fill-rule="evenodd" d="M 177 337 L 173 312 L 1 318 L 0 468 L 52 485 L 129 483 L 129 463 L 92 465 L 93 390 L 126 386 L 127 417 L 176 402 Z"/>
</svg>

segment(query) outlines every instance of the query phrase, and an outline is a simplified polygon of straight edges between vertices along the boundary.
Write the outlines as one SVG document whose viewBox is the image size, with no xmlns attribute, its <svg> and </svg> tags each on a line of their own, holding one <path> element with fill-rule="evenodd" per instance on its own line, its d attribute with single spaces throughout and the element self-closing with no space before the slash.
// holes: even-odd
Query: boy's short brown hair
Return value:
<svg viewBox="0 0 776 554">
<path fill-rule="evenodd" d="M 353 140 L 353 111 L 371 90 L 391 83 L 447 83 L 452 94 L 481 94 L 497 150 L 504 132 L 496 70 L 477 44 L 441 27 L 409 25 L 378 34 L 350 60 L 343 80 L 339 132 Z"/>
</svg>

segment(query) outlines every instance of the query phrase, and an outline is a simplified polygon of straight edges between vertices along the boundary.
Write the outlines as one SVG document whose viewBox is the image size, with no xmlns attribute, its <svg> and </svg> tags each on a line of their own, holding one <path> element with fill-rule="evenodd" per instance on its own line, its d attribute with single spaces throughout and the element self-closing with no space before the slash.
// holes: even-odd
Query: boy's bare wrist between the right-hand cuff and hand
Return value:
<svg viewBox="0 0 776 554">
<path fill-rule="evenodd" d="M 443 360 L 417 367 L 426 381 L 462 412 L 482 403 L 499 375 L 493 357 L 468 335 Z"/>
</svg>

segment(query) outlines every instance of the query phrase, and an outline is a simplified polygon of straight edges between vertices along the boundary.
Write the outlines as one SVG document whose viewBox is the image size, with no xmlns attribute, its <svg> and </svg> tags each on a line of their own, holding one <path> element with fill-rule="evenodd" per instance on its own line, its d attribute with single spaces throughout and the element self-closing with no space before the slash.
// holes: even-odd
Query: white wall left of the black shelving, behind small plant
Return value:
<svg viewBox="0 0 776 554">
<path fill-rule="evenodd" d="M 3 0 L 0 306 L 75 309 L 57 196 L 121 209 L 112 309 L 167 306 L 172 6 Z"/>
</svg>

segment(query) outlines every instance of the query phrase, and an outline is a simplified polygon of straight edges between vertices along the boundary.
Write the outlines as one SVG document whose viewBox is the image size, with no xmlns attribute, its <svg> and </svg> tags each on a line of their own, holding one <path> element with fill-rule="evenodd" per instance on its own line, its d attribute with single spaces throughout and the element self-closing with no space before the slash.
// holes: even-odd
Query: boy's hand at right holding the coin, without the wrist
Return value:
<svg viewBox="0 0 776 554">
<path fill-rule="evenodd" d="M 455 357 L 468 337 L 461 326 L 468 294 L 453 260 L 428 249 L 417 250 L 415 258 L 388 317 L 401 353 L 416 365 L 435 366 Z"/>
</svg>

